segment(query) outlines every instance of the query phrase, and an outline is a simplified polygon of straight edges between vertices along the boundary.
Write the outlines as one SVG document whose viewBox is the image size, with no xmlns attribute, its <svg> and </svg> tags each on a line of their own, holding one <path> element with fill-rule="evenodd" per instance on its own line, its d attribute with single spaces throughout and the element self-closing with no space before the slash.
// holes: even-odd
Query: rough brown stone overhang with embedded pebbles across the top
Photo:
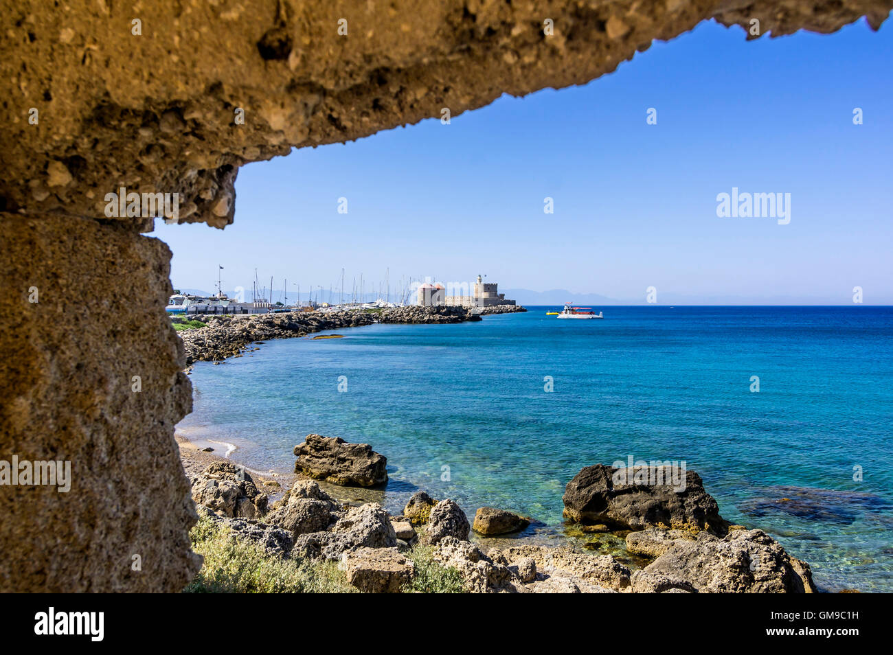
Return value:
<svg viewBox="0 0 893 655">
<path fill-rule="evenodd" d="M 444 108 L 455 120 L 503 93 L 582 84 L 705 19 L 749 29 L 756 18 L 761 34 L 777 36 L 830 32 L 863 15 L 876 28 L 890 6 L 3 0 L 0 211 L 101 217 L 104 195 L 124 186 L 179 193 L 180 220 L 223 227 L 238 167 L 292 146 L 439 119 Z"/>
</svg>

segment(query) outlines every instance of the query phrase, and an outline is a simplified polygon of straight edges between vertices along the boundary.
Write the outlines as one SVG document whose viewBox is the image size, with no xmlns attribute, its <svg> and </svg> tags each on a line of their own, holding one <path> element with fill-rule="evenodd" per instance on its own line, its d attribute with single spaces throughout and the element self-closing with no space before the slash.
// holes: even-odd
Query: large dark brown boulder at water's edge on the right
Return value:
<svg viewBox="0 0 893 655">
<path fill-rule="evenodd" d="M 680 468 L 588 466 L 567 484 L 563 501 L 564 516 L 578 523 L 721 534 L 729 525 L 701 477 Z"/>
</svg>

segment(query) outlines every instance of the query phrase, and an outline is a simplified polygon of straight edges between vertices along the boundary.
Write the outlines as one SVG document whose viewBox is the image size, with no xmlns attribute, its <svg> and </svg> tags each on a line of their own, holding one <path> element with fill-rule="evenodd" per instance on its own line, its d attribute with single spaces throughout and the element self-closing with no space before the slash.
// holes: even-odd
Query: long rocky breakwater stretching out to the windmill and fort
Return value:
<svg viewBox="0 0 893 655">
<path fill-rule="evenodd" d="M 239 357 L 257 341 L 307 336 L 313 332 L 360 327 L 374 323 L 433 325 L 480 320 L 490 314 L 527 311 L 519 305 L 497 305 L 469 311 L 462 307 L 383 307 L 375 310 L 289 311 L 277 314 L 204 315 L 194 317 L 205 327 L 183 330 L 179 336 L 186 349 L 186 363 L 223 361 Z"/>
</svg>

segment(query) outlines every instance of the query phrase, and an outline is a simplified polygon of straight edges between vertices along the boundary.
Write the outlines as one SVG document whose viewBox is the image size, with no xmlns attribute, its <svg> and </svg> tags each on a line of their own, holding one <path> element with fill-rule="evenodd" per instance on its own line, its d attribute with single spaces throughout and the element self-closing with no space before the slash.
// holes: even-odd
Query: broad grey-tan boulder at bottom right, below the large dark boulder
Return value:
<svg viewBox="0 0 893 655">
<path fill-rule="evenodd" d="M 631 582 L 638 593 L 815 593 L 809 565 L 762 530 L 675 539 Z"/>
</svg>

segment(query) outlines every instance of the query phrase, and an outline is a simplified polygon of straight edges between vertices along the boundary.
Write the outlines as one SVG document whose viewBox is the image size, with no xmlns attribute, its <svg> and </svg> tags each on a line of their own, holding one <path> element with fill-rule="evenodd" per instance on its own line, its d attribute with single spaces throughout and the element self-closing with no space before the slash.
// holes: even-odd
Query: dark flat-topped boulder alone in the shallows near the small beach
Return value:
<svg viewBox="0 0 893 655">
<path fill-rule="evenodd" d="M 341 486 L 388 482 L 388 460 L 369 444 L 348 444 L 335 436 L 307 435 L 295 446 L 295 473 Z"/>
</svg>

